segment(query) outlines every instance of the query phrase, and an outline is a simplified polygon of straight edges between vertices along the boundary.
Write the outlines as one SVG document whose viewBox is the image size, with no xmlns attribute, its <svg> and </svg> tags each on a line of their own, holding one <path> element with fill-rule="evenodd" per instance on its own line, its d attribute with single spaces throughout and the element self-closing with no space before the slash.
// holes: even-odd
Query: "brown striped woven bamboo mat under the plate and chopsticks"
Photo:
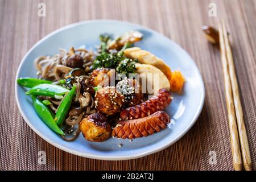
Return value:
<svg viewBox="0 0 256 182">
<path fill-rule="evenodd" d="M 38 3 L 46 3 L 46 17 Z M 256 62 L 254 0 L 0 0 L 0 169 L 23 170 L 232 170 L 227 111 L 219 51 L 210 45 L 201 26 L 217 27 L 208 16 L 217 5 L 231 34 L 251 159 L 256 169 Z M 192 129 L 166 150 L 135 160 L 108 162 L 61 151 L 28 127 L 15 102 L 15 75 L 22 57 L 49 32 L 89 19 L 119 19 L 139 23 L 180 44 L 196 61 L 205 83 L 203 111 Z M 38 151 L 46 151 L 46 165 Z M 216 152 L 216 164 L 209 152 Z"/>
</svg>

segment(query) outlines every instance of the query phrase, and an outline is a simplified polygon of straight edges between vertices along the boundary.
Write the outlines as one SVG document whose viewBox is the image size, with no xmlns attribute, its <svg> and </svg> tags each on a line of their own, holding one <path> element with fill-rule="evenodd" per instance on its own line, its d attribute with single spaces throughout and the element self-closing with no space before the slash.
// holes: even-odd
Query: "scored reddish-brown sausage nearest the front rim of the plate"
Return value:
<svg viewBox="0 0 256 182">
<path fill-rule="evenodd" d="M 167 123 L 170 123 L 169 115 L 164 111 L 157 111 L 148 117 L 118 122 L 112 136 L 122 139 L 147 137 L 165 129 Z"/>
</svg>

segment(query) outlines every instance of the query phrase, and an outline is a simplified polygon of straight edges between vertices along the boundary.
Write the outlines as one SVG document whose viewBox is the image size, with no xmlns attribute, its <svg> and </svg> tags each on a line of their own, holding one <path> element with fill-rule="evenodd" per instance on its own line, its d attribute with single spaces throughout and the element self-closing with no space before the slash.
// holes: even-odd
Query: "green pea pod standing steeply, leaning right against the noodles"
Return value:
<svg viewBox="0 0 256 182">
<path fill-rule="evenodd" d="M 76 85 L 74 85 L 70 92 L 65 94 L 63 100 L 60 102 L 60 105 L 57 108 L 56 115 L 54 121 L 56 121 L 57 125 L 61 126 L 67 113 L 69 107 L 71 106 L 73 96 L 76 92 Z"/>
</svg>

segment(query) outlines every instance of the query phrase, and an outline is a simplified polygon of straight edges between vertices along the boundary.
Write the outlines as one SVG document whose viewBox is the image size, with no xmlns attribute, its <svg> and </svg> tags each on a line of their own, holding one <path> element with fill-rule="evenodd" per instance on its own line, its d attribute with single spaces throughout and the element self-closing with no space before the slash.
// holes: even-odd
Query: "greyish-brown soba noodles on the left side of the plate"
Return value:
<svg viewBox="0 0 256 182">
<path fill-rule="evenodd" d="M 35 67 L 38 70 L 37 75 L 39 78 L 52 80 L 54 81 L 53 84 L 60 84 L 59 80 L 64 79 L 64 76 L 67 75 L 73 69 L 73 68 L 67 67 L 67 60 L 69 59 L 69 57 L 71 57 L 73 54 L 77 54 L 77 55 L 80 55 L 84 60 L 85 73 L 87 75 L 81 75 L 75 78 L 75 84 L 77 85 L 77 90 L 76 90 L 76 96 L 74 99 L 74 102 L 77 102 L 77 104 L 80 104 L 79 108 L 82 109 L 83 111 L 82 113 L 77 115 L 72 115 L 72 114 L 67 115 L 67 118 L 64 121 L 63 127 L 64 127 L 64 132 L 69 137 L 61 136 L 64 140 L 72 141 L 72 140 L 75 140 L 80 133 L 79 123 L 81 122 L 82 118 L 96 112 L 96 110 L 94 109 L 93 97 L 88 92 L 81 93 L 81 84 L 80 84 L 80 81 L 84 80 L 85 85 L 86 86 L 89 85 L 90 75 L 88 75 L 89 74 L 88 72 L 89 72 L 89 67 L 93 63 L 93 58 L 95 57 L 95 54 L 93 53 L 93 51 L 88 51 L 84 48 L 74 49 L 72 47 L 69 51 L 63 48 L 60 48 L 59 50 L 60 50 L 60 53 L 55 56 L 38 57 L 35 60 Z M 88 94 L 90 97 L 90 99 L 88 100 L 88 103 L 86 103 L 85 107 L 81 107 L 80 98 L 84 97 L 85 95 L 87 96 Z M 56 113 L 58 106 L 61 103 L 61 100 L 57 100 L 56 98 L 51 98 L 51 97 L 44 97 L 44 96 L 42 96 L 42 99 L 49 100 L 52 103 L 51 105 L 49 105 L 49 108 L 51 108 L 51 110 Z M 75 105 L 72 107 L 75 107 Z"/>
</svg>

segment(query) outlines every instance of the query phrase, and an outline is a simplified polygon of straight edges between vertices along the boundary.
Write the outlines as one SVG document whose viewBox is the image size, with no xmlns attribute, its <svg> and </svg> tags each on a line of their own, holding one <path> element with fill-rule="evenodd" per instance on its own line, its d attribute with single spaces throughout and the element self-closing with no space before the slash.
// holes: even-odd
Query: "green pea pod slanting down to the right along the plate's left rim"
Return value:
<svg viewBox="0 0 256 182">
<path fill-rule="evenodd" d="M 44 123 L 57 134 L 65 135 L 64 132 L 57 126 L 57 123 L 54 121 L 51 111 L 46 105 L 44 105 L 38 98 L 32 95 L 33 106 L 36 113 L 43 120 Z"/>
</svg>

